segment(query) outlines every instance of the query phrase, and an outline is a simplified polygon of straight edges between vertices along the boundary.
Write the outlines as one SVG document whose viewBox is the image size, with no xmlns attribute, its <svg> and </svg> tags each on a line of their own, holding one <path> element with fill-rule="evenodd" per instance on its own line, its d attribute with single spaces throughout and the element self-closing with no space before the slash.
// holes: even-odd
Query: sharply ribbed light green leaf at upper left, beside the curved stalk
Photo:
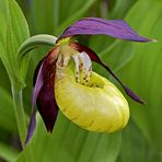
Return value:
<svg viewBox="0 0 162 162">
<path fill-rule="evenodd" d="M 0 57 L 11 82 L 24 84 L 28 58 L 18 62 L 18 49 L 28 37 L 25 18 L 14 0 L 0 1 Z"/>
</svg>

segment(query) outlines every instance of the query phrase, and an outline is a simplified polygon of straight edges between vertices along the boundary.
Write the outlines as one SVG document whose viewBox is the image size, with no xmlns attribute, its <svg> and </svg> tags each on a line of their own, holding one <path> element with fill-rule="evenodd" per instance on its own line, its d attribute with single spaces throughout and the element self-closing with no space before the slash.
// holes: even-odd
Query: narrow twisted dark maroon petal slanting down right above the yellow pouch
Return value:
<svg viewBox="0 0 162 162">
<path fill-rule="evenodd" d="M 92 61 L 95 61 L 97 63 L 100 63 L 102 67 L 104 67 L 118 82 L 119 84 L 123 86 L 123 89 L 125 90 L 126 94 L 128 96 L 130 96 L 132 100 L 135 100 L 138 103 L 144 104 L 144 102 L 137 96 L 129 88 L 127 88 L 126 85 L 123 84 L 123 82 L 118 79 L 118 77 L 111 70 L 111 68 L 108 66 L 106 66 L 100 58 L 99 56 L 90 48 L 88 48 L 84 45 L 81 45 L 77 42 L 71 42 L 69 44 L 73 49 L 78 50 L 79 53 L 86 53 Z"/>
</svg>

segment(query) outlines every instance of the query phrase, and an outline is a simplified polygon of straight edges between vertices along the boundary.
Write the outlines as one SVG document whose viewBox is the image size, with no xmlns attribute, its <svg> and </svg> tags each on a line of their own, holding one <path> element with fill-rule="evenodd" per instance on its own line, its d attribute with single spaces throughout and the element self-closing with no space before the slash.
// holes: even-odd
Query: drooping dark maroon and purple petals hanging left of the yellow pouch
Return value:
<svg viewBox="0 0 162 162">
<path fill-rule="evenodd" d="M 35 129 L 35 103 L 37 102 L 37 108 L 40 113 L 47 131 L 53 131 L 57 114 L 58 106 L 55 101 L 54 94 L 54 81 L 58 49 L 54 48 L 37 65 L 34 73 L 34 89 L 32 96 L 32 115 L 27 130 L 27 137 L 25 143 L 27 143 Z"/>
</svg>

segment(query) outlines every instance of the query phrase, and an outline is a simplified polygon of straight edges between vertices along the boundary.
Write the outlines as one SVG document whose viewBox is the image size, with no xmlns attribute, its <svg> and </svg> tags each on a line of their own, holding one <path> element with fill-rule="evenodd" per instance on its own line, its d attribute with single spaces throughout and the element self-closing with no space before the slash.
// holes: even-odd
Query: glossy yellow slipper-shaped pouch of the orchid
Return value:
<svg viewBox="0 0 162 162">
<path fill-rule="evenodd" d="M 76 81 L 72 70 L 57 66 L 55 97 L 70 120 L 90 131 L 112 132 L 129 119 L 129 106 L 120 91 L 95 72 L 85 86 Z"/>
</svg>

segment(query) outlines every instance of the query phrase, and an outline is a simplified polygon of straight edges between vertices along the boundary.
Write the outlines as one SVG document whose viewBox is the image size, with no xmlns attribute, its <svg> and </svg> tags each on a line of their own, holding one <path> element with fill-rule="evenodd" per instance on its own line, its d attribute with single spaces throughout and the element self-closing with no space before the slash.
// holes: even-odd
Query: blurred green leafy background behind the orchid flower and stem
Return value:
<svg viewBox="0 0 162 162">
<path fill-rule="evenodd" d="M 5 21 L 3 2 L 5 5 L 9 3 L 7 14 L 10 13 L 12 23 L 15 23 L 13 27 L 18 31 L 23 30 L 21 25 L 25 22 L 18 22 L 21 21 L 23 14 L 25 15 L 31 36 L 35 34 L 59 36 L 66 26 L 78 19 L 97 16 L 123 19 L 140 35 L 158 39 L 158 43 L 144 44 L 118 40 L 107 36 L 79 37 L 80 43 L 95 50 L 100 58 L 121 78 L 123 82 L 147 102 L 147 105 L 142 106 L 128 99 L 130 120 L 124 130 L 114 134 L 85 131 L 59 113 L 53 134 L 47 135 L 37 114 L 37 127 L 32 140 L 33 160 L 35 162 L 161 162 L 162 1 L 16 0 L 22 13 L 14 0 L 0 0 L 0 22 Z M 4 26 L 2 24 L 0 24 L 0 45 L 3 43 Z M 15 38 L 19 38 L 21 34 L 18 36 L 18 31 L 13 28 L 11 31 Z M 27 33 L 27 30 L 24 32 Z M 4 44 L 12 48 L 13 42 L 11 39 Z M 26 88 L 23 91 L 27 121 L 31 111 L 33 72 L 39 59 L 48 50 L 47 47 L 40 47 L 31 55 L 25 80 Z M 109 77 L 97 65 L 94 65 L 94 70 L 106 78 Z M 0 74 L 0 162 L 31 162 L 25 159 L 27 148 L 24 151 L 20 148 L 10 80 L 1 61 Z"/>
</svg>

